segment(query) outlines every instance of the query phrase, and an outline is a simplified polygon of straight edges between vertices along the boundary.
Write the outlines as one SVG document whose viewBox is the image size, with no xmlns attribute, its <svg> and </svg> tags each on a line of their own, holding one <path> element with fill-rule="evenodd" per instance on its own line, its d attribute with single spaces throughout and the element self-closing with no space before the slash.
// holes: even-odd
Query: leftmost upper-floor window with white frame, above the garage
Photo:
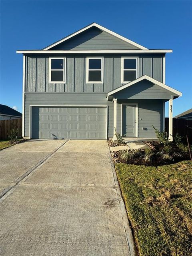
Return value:
<svg viewBox="0 0 192 256">
<path fill-rule="evenodd" d="M 49 58 L 49 83 L 65 84 L 66 58 Z"/>
</svg>

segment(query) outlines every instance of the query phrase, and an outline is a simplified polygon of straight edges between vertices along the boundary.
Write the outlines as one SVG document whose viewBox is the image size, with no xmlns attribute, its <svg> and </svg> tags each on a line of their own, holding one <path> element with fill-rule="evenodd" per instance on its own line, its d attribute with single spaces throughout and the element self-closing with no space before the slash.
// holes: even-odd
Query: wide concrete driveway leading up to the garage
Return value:
<svg viewBox="0 0 192 256">
<path fill-rule="evenodd" d="M 106 140 L 0 152 L 0 255 L 136 255 Z"/>
</svg>

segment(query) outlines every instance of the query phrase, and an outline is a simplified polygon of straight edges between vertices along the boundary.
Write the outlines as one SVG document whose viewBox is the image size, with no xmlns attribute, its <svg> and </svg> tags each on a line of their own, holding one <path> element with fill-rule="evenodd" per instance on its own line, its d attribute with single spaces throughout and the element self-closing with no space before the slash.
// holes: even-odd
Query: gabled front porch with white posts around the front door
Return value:
<svg viewBox="0 0 192 256">
<path fill-rule="evenodd" d="M 165 102 L 169 102 L 169 140 L 172 136 L 173 99 L 182 94 L 148 76 L 112 90 L 107 99 L 114 104 L 114 135 L 125 141 L 157 140 L 155 128 L 165 128 Z"/>
</svg>

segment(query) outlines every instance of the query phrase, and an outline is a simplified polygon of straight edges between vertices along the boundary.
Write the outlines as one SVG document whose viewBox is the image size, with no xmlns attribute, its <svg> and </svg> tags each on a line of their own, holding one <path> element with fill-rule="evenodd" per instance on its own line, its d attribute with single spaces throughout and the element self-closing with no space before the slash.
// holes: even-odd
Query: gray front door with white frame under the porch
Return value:
<svg viewBox="0 0 192 256">
<path fill-rule="evenodd" d="M 136 137 L 137 134 L 137 116 L 135 105 L 122 105 L 122 136 Z"/>
</svg>

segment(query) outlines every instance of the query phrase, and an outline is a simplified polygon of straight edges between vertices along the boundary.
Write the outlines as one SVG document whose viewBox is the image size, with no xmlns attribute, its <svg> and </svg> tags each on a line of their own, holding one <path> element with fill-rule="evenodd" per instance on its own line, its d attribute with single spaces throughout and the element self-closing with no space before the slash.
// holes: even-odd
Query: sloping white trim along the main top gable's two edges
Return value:
<svg viewBox="0 0 192 256">
<path fill-rule="evenodd" d="M 60 43 L 62 43 L 64 41 L 66 41 L 66 40 L 68 40 L 70 38 L 72 38 L 73 36 L 76 36 L 76 35 L 80 34 L 81 32 L 83 32 L 85 30 L 88 30 L 89 28 L 91 28 L 93 26 L 95 26 L 96 28 L 99 28 L 100 30 L 102 30 L 104 32 L 107 32 L 108 34 L 111 34 L 112 36 L 116 36 L 117 38 L 119 38 L 119 39 L 121 39 L 121 40 L 123 40 L 123 41 L 125 41 L 125 42 L 127 42 L 129 44 L 132 44 L 132 45 L 134 45 L 134 46 L 136 46 L 136 47 L 138 47 L 138 48 L 140 48 L 142 50 L 148 50 L 148 48 L 145 48 L 144 46 L 141 46 L 140 44 L 137 44 L 137 43 L 135 43 L 135 42 L 125 38 L 124 36 L 120 36 L 119 34 L 116 34 L 115 32 L 113 32 L 113 31 L 111 31 L 111 30 L 109 30 L 107 28 L 104 28 L 103 26 L 100 26 L 100 25 L 98 25 L 96 23 L 92 23 L 92 24 L 86 26 L 85 28 L 82 28 L 82 29 L 78 30 L 77 32 L 74 32 L 73 34 L 71 34 L 71 35 L 69 35 L 69 36 L 59 40 L 58 42 L 55 42 L 54 44 L 51 44 L 50 46 L 47 46 L 43 50 L 44 51 L 49 50 L 50 48 L 52 48 L 52 47 L 54 47 L 54 46 L 56 46 L 56 45 L 58 45 L 58 44 L 60 44 Z"/>
</svg>

